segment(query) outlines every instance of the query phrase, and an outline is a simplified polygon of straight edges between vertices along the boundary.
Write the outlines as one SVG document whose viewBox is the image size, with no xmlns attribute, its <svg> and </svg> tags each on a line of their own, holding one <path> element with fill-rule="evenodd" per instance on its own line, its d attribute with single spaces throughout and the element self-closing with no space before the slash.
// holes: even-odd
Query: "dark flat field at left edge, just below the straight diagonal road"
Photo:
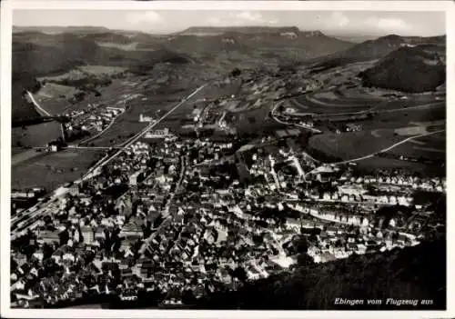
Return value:
<svg viewBox="0 0 455 319">
<path fill-rule="evenodd" d="M 20 165 L 12 166 L 11 187 L 22 189 L 44 186 L 55 189 L 60 184 L 80 178 L 100 154 L 95 150 L 68 150 L 26 160 Z"/>
</svg>

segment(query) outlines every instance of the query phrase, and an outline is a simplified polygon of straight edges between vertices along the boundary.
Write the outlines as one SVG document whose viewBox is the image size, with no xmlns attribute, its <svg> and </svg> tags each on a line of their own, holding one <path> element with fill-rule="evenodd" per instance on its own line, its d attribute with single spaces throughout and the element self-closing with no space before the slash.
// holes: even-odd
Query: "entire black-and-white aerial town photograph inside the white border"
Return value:
<svg viewBox="0 0 455 319">
<path fill-rule="evenodd" d="M 447 308 L 445 12 L 15 10 L 11 114 L 11 308 Z"/>
</svg>

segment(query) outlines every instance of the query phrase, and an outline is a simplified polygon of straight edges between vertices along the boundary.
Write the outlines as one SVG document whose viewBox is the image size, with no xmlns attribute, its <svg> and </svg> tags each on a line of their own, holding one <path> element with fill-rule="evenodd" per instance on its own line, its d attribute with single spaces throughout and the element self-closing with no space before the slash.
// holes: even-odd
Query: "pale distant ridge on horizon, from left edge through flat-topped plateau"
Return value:
<svg viewBox="0 0 455 319">
<path fill-rule="evenodd" d="M 109 30 L 91 26 L 15 27 L 16 35 L 41 32 L 46 35 L 71 34 L 92 40 L 98 45 L 135 45 L 136 50 L 167 48 L 179 53 L 205 54 L 223 50 L 300 49 L 304 58 L 329 55 L 352 45 L 322 34 L 300 31 L 298 27 L 190 27 L 172 35 L 151 35 L 142 32 Z"/>
</svg>

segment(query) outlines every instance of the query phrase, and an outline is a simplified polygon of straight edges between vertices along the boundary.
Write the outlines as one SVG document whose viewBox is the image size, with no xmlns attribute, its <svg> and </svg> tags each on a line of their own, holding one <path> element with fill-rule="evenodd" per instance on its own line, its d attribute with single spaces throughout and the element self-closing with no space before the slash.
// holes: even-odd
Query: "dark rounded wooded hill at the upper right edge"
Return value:
<svg viewBox="0 0 455 319">
<path fill-rule="evenodd" d="M 445 83 L 445 56 L 439 45 L 403 46 L 361 72 L 363 85 L 420 93 Z M 445 54 L 444 54 L 445 55 Z"/>
</svg>

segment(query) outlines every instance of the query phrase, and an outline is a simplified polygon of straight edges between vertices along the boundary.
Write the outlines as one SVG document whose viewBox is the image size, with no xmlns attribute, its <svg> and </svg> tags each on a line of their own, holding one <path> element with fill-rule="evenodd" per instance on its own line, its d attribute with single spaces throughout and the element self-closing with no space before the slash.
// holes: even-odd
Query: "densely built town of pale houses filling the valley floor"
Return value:
<svg viewBox="0 0 455 319">
<path fill-rule="evenodd" d="M 292 130 L 239 148 L 167 129 L 130 145 L 13 220 L 13 304 L 144 292 L 162 306 L 191 304 L 296 264 L 416 245 L 444 224 L 416 198 L 445 193 L 444 178 L 320 164 Z"/>
</svg>

